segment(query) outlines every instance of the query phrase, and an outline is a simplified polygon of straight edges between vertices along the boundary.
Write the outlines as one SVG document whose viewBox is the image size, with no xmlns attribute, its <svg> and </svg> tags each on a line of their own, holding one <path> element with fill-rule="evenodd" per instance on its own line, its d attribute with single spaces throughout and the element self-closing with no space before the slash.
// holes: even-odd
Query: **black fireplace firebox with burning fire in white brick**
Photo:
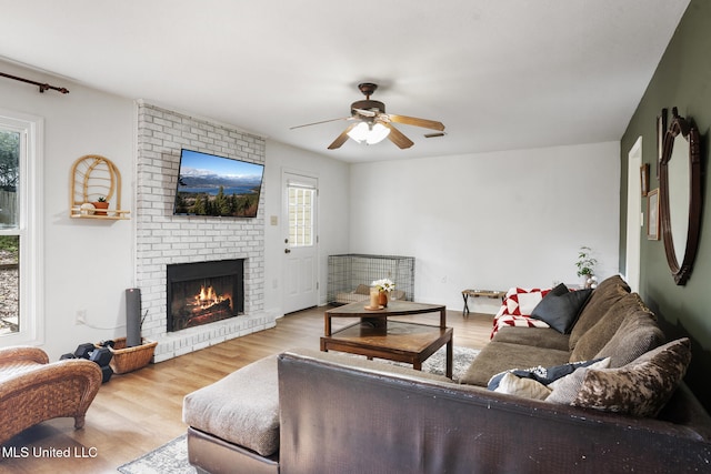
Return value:
<svg viewBox="0 0 711 474">
<path fill-rule="evenodd" d="M 168 332 L 213 323 L 244 312 L 244 260 L 167 266 Z"/>
</svg>

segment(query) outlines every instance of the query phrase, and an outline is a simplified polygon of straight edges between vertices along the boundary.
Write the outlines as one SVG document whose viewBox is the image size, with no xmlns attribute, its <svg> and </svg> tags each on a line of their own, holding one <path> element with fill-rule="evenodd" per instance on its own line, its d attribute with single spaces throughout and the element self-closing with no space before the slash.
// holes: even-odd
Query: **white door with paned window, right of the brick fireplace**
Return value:
<svg viewBox="0 0 711 474">
<path fill-rule="evenodd" d="M 318 180 L 282 173 L 284 234 L 283 312 L 316 306 L 318 289 Z"/>
</svg>

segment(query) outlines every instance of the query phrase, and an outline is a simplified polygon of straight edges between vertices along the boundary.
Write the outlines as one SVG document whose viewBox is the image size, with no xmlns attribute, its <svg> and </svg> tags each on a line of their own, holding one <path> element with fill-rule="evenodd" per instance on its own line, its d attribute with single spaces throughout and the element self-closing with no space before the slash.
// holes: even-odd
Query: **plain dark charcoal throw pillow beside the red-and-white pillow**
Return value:
<svg viewBox="0 0 711 474">
<path fill-rule="evenodd" d="M 561 283 L 533 309 L 531 317 L 545 321 L 559 333 L 568 334 L 591 293 L 592 290 L 570 291 Z"/>
</svg>

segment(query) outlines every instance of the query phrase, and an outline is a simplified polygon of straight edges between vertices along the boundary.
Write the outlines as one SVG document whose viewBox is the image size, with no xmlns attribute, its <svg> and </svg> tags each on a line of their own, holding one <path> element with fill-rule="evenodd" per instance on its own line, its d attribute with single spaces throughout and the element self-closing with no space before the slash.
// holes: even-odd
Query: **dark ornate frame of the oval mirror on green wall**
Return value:
<svg viewBox="0 0 711 474">
<path fill-rule="evenodd" d="M 691 275 L 693 261 L 699 245 L 701 230 L 701 142 L 699 130 L 691 121 L 679 117 L 677 108 L 672 110 L 672 122 L 664 134 L 664 148 L 659 163 L 659 204 L 661 233 L 669 269 L 678 285 L 683 285 Z M 671 231 L 669 209 L 669 161 L 674 149 L 674 139 L 682 135 L 689 142 L 689 232 L 684 246 L 683 260 L 680 263 L 674 252 L 674 239 Z"/>
</svg>

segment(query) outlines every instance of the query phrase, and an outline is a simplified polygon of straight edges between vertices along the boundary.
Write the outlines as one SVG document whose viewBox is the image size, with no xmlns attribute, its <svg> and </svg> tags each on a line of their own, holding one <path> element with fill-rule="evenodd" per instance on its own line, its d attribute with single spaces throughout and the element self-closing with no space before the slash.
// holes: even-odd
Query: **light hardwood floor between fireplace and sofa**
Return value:
<svg viewBox="0 0 711 474">
<path fill-rule="evenodd" d="M 83 430 L 72 418 L 41 423 L 2 447 L 0 473 L 116 473 L 116 468 L 186 432 L 181 421 L 186 394 L 270 354 L 291 347 L 319 347 L 328 306 L 286 315 L 277 326 L 249 334 L 139 371 L 113 375 L 99 390 Z M 401 320 L 439 324 L 439 314 Z M 448 311 L 454 345 L 481 349 L 491 332 L 492 315 Z M 338 329 L 352 321 L 334 321 Z M 10 456 L 14 447 L 19 457 Z M 26 450 L 24 452 L 22 450 Z M 69 457 L 59 457 L 69 453 Z M 27 457 L 22 454 L 27 453 Z"/>
</svg>

